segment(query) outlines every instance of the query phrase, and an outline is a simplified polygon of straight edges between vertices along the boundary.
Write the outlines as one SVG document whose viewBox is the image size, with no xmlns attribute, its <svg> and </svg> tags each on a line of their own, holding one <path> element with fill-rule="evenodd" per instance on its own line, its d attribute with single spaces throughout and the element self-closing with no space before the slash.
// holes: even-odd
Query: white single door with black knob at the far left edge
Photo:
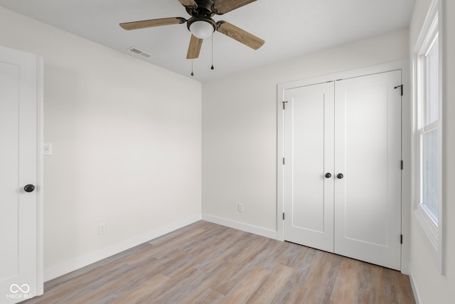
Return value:
<svg viewBox="0 0 455 304">
<path fill-rule="evenodd" d="M 0 47 L 1 303 L 39 292 L 37 84 L 38 57 Z"/>
</svg>

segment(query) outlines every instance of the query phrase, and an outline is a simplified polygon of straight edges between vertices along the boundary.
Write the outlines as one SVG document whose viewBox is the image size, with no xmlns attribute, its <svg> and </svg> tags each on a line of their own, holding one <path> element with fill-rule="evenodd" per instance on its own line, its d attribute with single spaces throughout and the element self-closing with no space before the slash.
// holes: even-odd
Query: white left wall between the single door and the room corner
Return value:
<svg viewBox="0 0 455 304">
<path fill-rule="evenodd" d="M 200 83 L 1 7 L 0 28 L 45 63 L 45 279 L 200 219 Z"/>
</svg>

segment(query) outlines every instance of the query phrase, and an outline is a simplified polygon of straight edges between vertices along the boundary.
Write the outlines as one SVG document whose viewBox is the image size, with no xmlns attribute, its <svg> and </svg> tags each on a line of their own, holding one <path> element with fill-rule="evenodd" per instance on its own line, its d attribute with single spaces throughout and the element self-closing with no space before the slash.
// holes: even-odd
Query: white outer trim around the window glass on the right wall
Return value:
<svg viewBox="0 0 455 304">
<path fill-rule="evenodd" d="M 441 26 L 441 14 L 439 14 L 441 10 L 441 1 L 440 0 L 433 0 L 432 4 L 430 4 L 429 11 L 425 18 L 424 24 L 422 29 L 419 33 L 419 37 L 417 38 L 417 42 L 414 46 L 413 56 L 412 56 L 412 87 L 413 87 L 413 97 L 412 97 L 412 104 L 413 104 L 413 132 L 414 136 L 412 138 L 412 159 L 414 162 L 414 174 L 413 174 L 413 181 L 412 181 L 412 201 L 413 201 L 413 209 L 414 209 L 414 216 L 417 219 L 417 223 L 419 224 L 424 239 L 427 240 L 427 245 L 429 251 L 432 253 L 434 257 L 434 261 L 437 263 L 439 268 L 439 272 L 444 274 L 444 259 L 443 259 L 443 233 L 444 233 L 444 201 L 442 197 L 442 146 L 444 143 L 442 142 L 442 75 L 443 75 L 443 68 L 444 65 L 442 64 L 442 26 Z M 422 119 L 421 113 L 419 112 L 419 98 L 422 96 L 424 92 L 419 90 L 417 83 L 420 82 L 419 79 L 419 60 L 420 55 L 422 54 L 422 48 L 429 46 L 435 37 L 435 33 L 438 36 L 438 43 L 439 43 L 439 120 L 437 122 L 437 129 L 439 130 L 438 135 L 438 223 L 436 224 L 434 220 L 429 216 L 427 211 L 424 210 L 424 206 L 419 204 L 419 197 L 420 197 L 420 147 L 419 147 L 419 137 L 420 132 L 418 130 L 419 127 L 419 120 Z M 428 127 L 434 127 L 429 125 Z"/>
</svg>

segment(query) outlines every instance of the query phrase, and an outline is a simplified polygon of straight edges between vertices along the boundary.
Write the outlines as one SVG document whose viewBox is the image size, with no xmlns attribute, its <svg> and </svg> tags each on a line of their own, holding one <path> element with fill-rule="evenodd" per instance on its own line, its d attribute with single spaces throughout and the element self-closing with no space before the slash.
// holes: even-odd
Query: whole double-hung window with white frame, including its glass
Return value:
<svg viewBox="0 0 455 304">
<path fill-rule="evenodd" d="M 442 273 L 441 26 L 433 0 L 414 47 L 414 215 Z"/>
</svg>

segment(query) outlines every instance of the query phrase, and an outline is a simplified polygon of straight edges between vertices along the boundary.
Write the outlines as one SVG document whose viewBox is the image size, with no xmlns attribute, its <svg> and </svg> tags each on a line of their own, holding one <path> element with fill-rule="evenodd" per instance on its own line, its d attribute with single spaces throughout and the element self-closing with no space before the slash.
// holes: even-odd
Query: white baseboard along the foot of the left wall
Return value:
<svg viewBox="0 0 455 304">
<path fill-rule="evenodd" d="M 168 224 L 158 229 L 149 231 L 145 234 L 141 234 L 140 236 L 135 236 L 132 239 L 127 239 L 120 243 L 116 243 L 106 248 L 102 248 L 98 251 L 88 253 L 85 256 L 80 256 L 78 258 L 74 258 L 73 260 L 65 261 L 63 263 L 60 263 L 60 265 L 46 268 L 44 270 L 44 281 L 52 280 L 53 278 L 63 276 L 66 273 L 70 273 L 71 271 L 75 271 L 79 268 L 90 265 L 91 263 L 101 261 L 103 258 L 108 258 L 109 256 L 113 256 L 114 254 L 120 253 L 129 248 L 140 245 L 141 243 L 145 243 L 146 241 L 156 239 L 159 236 L 163 236 L 164 234 L 168 234 L 169 232 L 193 224 L 196 221 L 200 221 L 200 219 L 201 219 L 200 215 L 192 216 L 188 219 L 184 219 L 183 221 Z"/>
</svg>

